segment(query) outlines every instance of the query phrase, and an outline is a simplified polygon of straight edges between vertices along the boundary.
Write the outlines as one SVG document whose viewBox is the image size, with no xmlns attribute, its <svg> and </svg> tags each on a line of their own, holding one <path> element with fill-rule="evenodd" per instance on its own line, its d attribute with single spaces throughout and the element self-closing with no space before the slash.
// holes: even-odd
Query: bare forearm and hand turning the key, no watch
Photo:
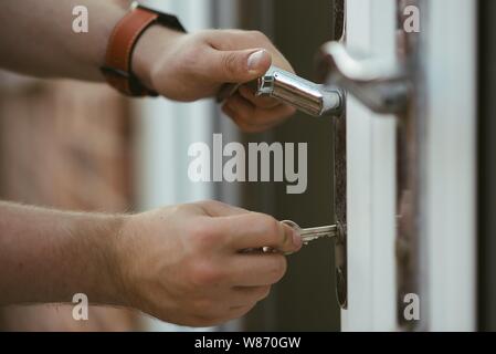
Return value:
<svg viewBox="0 0 496 354">
<path fill-rule="evenodd" d="M 89 302 L 165 321 L 212 325 L 239 317 L 286 270 L 277 253 L 300 238 L 272 217 L 217 201 L 134 216 L 62 212 L 0 202 L 0 305 Z"/>
</svg>

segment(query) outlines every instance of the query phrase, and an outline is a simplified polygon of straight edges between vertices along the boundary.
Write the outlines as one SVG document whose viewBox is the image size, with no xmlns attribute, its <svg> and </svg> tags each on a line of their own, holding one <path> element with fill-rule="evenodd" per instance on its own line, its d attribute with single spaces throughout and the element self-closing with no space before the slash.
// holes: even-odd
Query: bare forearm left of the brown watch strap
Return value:
<svg viewBox="0 0 496 354">
<path fill-rule="evenodd" d="M 8 0 L 0 11 L 0 66 L 41 77 L 103 81 L 108 38 L 128 0 Z M 88 9 L 89 31 L 75 33 L 73 8 Z"/>
</svg>

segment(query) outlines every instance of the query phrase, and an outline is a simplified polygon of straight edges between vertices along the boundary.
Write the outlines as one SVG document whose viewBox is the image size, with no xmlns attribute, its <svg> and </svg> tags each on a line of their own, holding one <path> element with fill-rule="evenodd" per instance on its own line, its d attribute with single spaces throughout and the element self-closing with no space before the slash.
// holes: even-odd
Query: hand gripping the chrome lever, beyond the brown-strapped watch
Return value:
<svg viewBox="0 0 496 354">
<path fill-rule="evenodd" d="M 247 83 L 271 64 L 294 72 L 274 44 L 261 32 L 208 30 L 184 34 L 154 27 L 138 41 L 134 71 L 161 95 L 190 102 L 214 96 L 225 83 Z M 295 113 L 276 100 L 256 97 L 241 86 L 223 105 L 243 131 L 268 129 Z"/>
</svg>

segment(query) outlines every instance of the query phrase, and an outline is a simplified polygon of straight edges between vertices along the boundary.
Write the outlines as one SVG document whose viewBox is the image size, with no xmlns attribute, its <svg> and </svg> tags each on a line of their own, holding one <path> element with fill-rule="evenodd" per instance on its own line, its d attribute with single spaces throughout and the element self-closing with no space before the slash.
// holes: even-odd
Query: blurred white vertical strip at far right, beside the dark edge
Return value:
<svg viewBox="0 0 496 354">
<path fill-rule="evenodd" d="M 428 329 L 476 329 L 476 1 L 426 1 Z"/>
</svg>

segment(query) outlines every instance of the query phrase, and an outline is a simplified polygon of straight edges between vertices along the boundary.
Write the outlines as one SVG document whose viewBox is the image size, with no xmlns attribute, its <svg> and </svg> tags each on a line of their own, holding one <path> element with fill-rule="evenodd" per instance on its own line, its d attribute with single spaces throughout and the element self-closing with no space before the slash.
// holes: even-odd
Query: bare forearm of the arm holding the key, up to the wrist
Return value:
<svg viewBox="0 0 496 354">
<path fill-rule="evenodd" d="M 0 202 L 0 305 L 122 304 L 113 254 L 122 217 L 71 214 Z"/>
</svg>

